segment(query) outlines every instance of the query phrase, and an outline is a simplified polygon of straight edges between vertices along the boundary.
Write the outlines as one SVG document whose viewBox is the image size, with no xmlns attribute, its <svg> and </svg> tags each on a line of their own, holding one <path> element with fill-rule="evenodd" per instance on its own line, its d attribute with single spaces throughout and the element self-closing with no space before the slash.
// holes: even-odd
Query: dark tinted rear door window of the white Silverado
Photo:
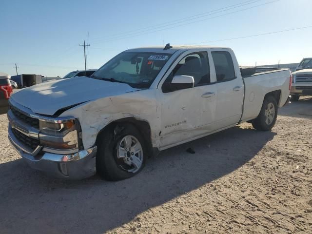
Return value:
<svg viewBox="0 0 312 234">
<path fill-rule="evenodd" d="M 211 52 L 215 63 L 216 81 L 226 81 L 235 78 L 231 54 L 226 51 Z"/>
</svg>

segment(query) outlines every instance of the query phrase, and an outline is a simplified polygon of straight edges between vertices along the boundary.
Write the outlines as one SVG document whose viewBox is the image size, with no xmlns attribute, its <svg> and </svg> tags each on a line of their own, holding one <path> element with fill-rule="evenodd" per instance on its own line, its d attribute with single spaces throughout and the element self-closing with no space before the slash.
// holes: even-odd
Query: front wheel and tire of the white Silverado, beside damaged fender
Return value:
<svg viewBox="0 0 312 234">
<path fill-rule="evenodd" d="M 98 136 L 96 144 L 97 172 L 104 179 L 111 181 L 127 179 L 137 175 L 145 166 L 148 152 L 146 143 L 132 124 L 116 125 L 103 131 Z M 140 147 L 141 152 L 135 153 Z"/>
</svg>

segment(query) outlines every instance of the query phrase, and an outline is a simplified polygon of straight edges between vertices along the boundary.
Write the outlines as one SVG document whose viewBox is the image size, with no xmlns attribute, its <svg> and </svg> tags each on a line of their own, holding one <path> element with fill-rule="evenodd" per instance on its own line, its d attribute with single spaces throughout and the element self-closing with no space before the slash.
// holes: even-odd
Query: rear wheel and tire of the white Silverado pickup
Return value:
<svg viewBox="0 0 312 234">
<path fill-rule="evenodd" d="M 260 131 L 270 131 L 277 117 L 277 103 L 273 96 L 264 99 L 261 111 L 257 118 L 252 121 L 253 127 Z"/>
</svg>

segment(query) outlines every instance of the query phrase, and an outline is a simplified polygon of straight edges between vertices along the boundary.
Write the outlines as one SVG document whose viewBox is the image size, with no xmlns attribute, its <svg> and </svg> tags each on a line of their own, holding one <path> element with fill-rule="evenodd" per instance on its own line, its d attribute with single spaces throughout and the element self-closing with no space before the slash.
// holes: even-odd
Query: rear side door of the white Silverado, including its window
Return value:
<svg viewBox="0 0 312 234">
<path fill-rule="evenodd" d="M 226 49 L 211 50 L 216 76 L 215 128 L 236 124 L 241 117 L 244 84 L 239 71 L 235 71 L 236 59 Z M 234 62 L 233 62 L 234 60 Z M 237 66 L 238 67 L 238 66 Z"/>
</svg>

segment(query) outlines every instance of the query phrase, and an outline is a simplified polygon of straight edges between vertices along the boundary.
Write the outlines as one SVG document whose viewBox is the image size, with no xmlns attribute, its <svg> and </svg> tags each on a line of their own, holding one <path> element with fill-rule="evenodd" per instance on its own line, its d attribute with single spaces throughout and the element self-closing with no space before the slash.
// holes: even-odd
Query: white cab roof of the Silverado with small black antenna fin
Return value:
<svg viewBox="0 0 312 234">
<path fill-rule="evenodd" d="M 210 45 L 172 45 L 169 49 L 165 49 L 165 46 L 147 46 L 147 47 L 138 47 L 134 49 L 126 50 L 126 52 L 154 52 L 154 53 L 166 53 L 174 54 L 178 50 L 192 50 L 192 49 L 230 49 L 228 47 L 218 47 Z"/>
</svg>

